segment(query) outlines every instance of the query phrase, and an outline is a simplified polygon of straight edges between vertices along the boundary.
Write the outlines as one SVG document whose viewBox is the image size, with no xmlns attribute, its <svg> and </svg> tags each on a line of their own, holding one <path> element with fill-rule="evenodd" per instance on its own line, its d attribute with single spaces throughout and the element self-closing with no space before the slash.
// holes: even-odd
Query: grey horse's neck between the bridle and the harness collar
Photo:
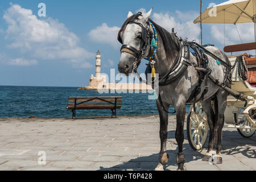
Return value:
<svg viewBox="0 0 256 182">
<path fill-rule="evenodd" d="M 177 48 L 174 40 L 174 36 L 171 36 L 170 40 L 171 51 L 168 53 L 164 48 L 163 39 L 159 36 L 158 51 L 156 52 L 156 64 L 155 71 L 159 74 L 159 77 L 166 75 L 170 70 L 174 61 L 176 60 L 179 49 Z"/>
</svg>

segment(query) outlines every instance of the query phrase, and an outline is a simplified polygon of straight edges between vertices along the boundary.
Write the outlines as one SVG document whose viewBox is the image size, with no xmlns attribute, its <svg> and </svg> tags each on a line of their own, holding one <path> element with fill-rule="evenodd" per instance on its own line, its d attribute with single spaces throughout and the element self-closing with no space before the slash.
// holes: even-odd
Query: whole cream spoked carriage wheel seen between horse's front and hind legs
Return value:
<svg viewBox="0 0 256 182">
<path fill-rule="evenodd" d="M 187 137 L 193 150 L 201 150 L 204 147 L 208 130 L 207 115 L 203 111 L 201 102 L 197 102 L 196 111 L 192 109 L 187 118 Z"/>
</svg>

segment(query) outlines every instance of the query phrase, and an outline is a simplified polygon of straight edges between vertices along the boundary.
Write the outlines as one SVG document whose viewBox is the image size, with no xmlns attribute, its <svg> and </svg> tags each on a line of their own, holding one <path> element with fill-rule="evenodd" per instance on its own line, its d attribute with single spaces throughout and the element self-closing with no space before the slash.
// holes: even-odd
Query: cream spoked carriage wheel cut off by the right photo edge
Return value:
<svg viewBox="0 0 256 182">
<path fill-rule="evenodd" d="M 252 116 L 254 115 L 254 110 L 249 110 L 249 115 Z M 234 118 L 235 121 L 238 125 L 240 126 L 250 126 L 251 127 L 251 123 L 247 120 L 247 118 L 245 117 L 245 115 L 242 113 L 242 111 L 240 110 L 239 113 L 235 113 L 234 114 Z M 237 129 L 238 133 L 245 138 L 249 138 L 251 136 L 254 135 L 256 130 L 253 129 Z"/>
</svg>

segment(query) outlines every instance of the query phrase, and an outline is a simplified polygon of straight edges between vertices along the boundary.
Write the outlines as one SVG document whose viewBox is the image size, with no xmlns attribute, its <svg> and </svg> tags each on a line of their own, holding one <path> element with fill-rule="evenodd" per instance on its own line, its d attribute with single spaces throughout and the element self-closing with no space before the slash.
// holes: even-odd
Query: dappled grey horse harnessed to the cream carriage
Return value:
<svg viewBox="0 0 256 182">
<path fill-rule="evenodd" d="M 154 57 L 155 63 L 155 72 L 159 74 L 159 78 L 166 75 L 169 69 L 174 64 L 176 57 L 179 52 L 179 46 L 176 42 L 179 38 L 171 36 L 170 32 L 160 27 L 158 24 L 153 22 L 150 19 L 152 9 L 144 15 L 136 16 L 134 19 L 133 13 L 129 11 L 127 15 L 127 20 L 121 27 L 121 30 L 118 33 L 118 39 L 122 44 L 132 46 L 133 48 L 139 50 L 143 45 L 142 34 L 143 34 L 143 25 L 148 27 L 147 22 L 150 21 L 154 24 L 156 32 L 158 34 L 158 49 Z M 130 20 L 133 19 L 133 22 Z M 152 28 L 148 29 L 152 31 Z M 189 29 L 188 29 L 189 31 Z M 154 32 L 152 32 L 154 33 Z M 218 56 L 221 60 L 224 60 L 225 63 L 230 64 L 225 53 L 220 49 L 208 46 L 206 49 L 212 52 L 214 55 Z M 149 57 L 151 55 L 152 49 L 150 44 L 144 49 L 144 55 L 141 56 L 141 59 Z M 197 63 L 196 57 L 190 53 L 190 61 L 192 63 Z M 220 82 L 224 82 L 226 68 L 222 64 L 218 64 L 216 59 L 207 55 L 209 60 L 209 68 L 212 70 L 210 75 L 218 79 Z M 120 73 L 128 76 L 134 71 L 134 62 L 136 60 L 135 54 L 129 51 L 121 51 L 121 58 L 118 63 L 118 71 Z M 160 117 L 160 153 L 159 153 L 159 164 L 155 170 L 163 170 L 163 166 L 168 162 L 168 154 L 166 152 L 166 142 L 167 142 L 167 125 L 168 125 L 168 113 L 166 110 L 170 105 L 174 106 L 176 110 L 176 131 L 175 139 L 178 144 L 178 153 L 177 153 L 177 170 L 185 170 L 184 162 L 185 156 L 183 154 L 183 141 L 184 141 L 184 120 L 185 120 L 185 105 L 191 96 L 193 90 L 196 89 L 196 85 L 199 82 L 200 76 L 196 71 L 195 67 L 188 66 L 185 72 L 180 75 L 176 80 L 172 81 L 168 85 L 159 86 L 159 94 L 162 98 L 162 105 L 160 104 L 159 97 L 156 100 L 156 106 L 158 108 L 159 117 Z M 205 81 L 201 83 L 201 88 L 204 88 Z M 205 154 L 203 160 L 208 161 L 211 157 L 212 150 L 214 149 L 214 139 L 217 141 L 216 145 L 216 154 L 217 154 L 217 163 L 222 163 L 221 157 L 221 131 L 224 125 L 224 111 L 226 109 L 226 98 L 228 93 L 222 89 L 220 86 L 214 84 L 212 80 L 208 80 L 209 90 L 204 95 L 202 100 L 202 106 L 204 112 L 207 114 L 207 122 L 209 125 L 209 144 L 208 151 Z M 201 89 L 200 94 L 196 96 L 196 100 L 200 100 L 201 95 L 203 94 Z M 215 98 L 214 110 L 212 108 L 212 98 Z M 162 107 L 164 106 L 164 107 Z"/>
</svg>

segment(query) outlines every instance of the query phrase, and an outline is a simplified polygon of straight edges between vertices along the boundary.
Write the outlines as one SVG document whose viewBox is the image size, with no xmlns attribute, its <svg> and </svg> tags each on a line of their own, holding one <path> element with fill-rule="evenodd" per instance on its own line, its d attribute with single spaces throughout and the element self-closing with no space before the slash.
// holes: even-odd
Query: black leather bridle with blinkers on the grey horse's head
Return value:
<svg viewBox="0 0 256 182">
<path fill-rule="evenodd" d="M 136 56 L 135 61 L 133 63 L 133 71 L 132 71 L 132 72 L 135 72 L 135 73 L 137 73 L 137 68 L 138 68 L 138 65 L 141 63 L 142 56 L 144 56 L 146 51 L 147 51 L 147 46 L 150 45 L 150 39 L 151 39 L 151 36 L 152 36 L 152 32 L 151 32 L 150 28 L 144 27 L 142 23 L 135 22 L 135 19 L 137 19 L 138 16 L 142 16 L 142 13 L 138 12 L 136 15 L 133 16 L 133 18 L 131 18 L 131 20 L 129 20 L 129 22 L 127 22 L 127 24 L 135 23 L 135 24 L 138 24 L 138 26 L 140 26 L 142 28 L 142 38 L 141 38 L 143 40 L 142 47 L 137 49 L 133 46 L 123 44 L 120 35 L 117 38 L 118 41 L 121 44 L 123 44 L 121 49 L 120 49 L 121 53 L 122 52 L 127 52 L 127 53 L 130 53 L 130 54 Z M 127 26 L 127 24 L 126 24 L 126 26 Z M 148 24 L 148 22 L 147 22 L 147 24 Z"/>
</svg>

